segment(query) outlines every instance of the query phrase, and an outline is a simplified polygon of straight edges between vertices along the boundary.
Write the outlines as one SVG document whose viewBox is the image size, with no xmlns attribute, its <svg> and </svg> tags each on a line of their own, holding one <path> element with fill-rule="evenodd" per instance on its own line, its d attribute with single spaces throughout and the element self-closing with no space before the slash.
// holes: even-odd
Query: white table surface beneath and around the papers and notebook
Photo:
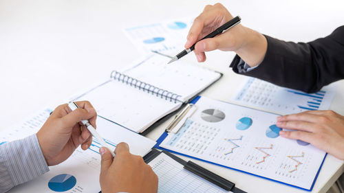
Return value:
<svg viewBox="0 0 344 193">
<path fill-rule="evenodd" d="M 0 0 L 0 130 L 105 80 L 139 57 L 124 27 L 197 16 L 215 1 Z M 312 41 L 344 23 L 344 1 L 222 1 L 242 24 L 286 41 Z M 234 54 L 210 52 L 206 65 L 224 76 L 202 95 L 228 100 L 243 80 L 228 68 Z M 195 63 L 189 54 L 184 60 Z M 344 81 L 331 104 L 344 115 Z M 147 137 L 158 139 L 167 122 Z M 1 135 L 1 132 L 0 132 Z M 195 160 L 194 160 L 195 161 Z M 305 192 L 202 161 L 200 165 L 247 192 Z M 312 192 L 326 192 L 344 171 L 328 155 Z"/>
</svg>

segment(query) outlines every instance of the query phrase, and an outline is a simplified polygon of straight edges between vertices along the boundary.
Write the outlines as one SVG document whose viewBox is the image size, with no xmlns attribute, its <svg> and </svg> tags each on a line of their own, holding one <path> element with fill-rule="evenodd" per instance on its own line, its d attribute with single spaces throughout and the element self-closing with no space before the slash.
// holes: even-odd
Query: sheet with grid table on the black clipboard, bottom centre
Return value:
<svg viewBox="0 0 344 193">
<path fill-rule="evenodd" d="M 151 166 L 159 178 L 158 192 L 228 192 L 206 179 L 185 170 L 182 164 L 164 153 L 160 153 L 148 165 Z"/>
</svg>

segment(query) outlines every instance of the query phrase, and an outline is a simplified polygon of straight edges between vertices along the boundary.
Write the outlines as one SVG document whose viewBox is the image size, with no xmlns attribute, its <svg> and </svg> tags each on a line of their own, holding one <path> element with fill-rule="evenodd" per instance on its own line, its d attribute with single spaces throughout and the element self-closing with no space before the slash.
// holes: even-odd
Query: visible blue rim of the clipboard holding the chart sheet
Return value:
<svg viewBox="0 0 344 193">
<path fill-rule="evenodd" d="M 197 101 L 200 100 L 200 98 L 201 98 L 201 96 L 198 95 L 198 96 L 195 97 L 193 100 L 191 100 L 190 104 L 196 104 Z M 181 114 L 182 114 L 182 113 L 180 113 L 179 115 L 181 115 Z M 178 115 L 177 115 L 177 116 L 178 116 Z M 176 116 L 175 118 L 177 118 L 177 116 Z M 289 185 L 289 186 L 292 186 L 292 187 L 294 187 L 294 188 L 298 188 L 298 189 L 305 190 L 305 191 L 308 191 L 308 192 L 311 192 L 311 191 L 312 191 L 312 189 L 313 189 L 313 187 L 314 187 L 314 183 L 316 182 L 316 179 L 317 179 L 318 176 L 319 176 L 319 172 L 320 172 L 321 168 L 323 167 L 323 162 L 325 161 L 325 158 L 327 157 L 327 153 L 326 153 L 326 154 L 325 154 L 325 157 L 323 158 L 323 161 L 321 162 L 321 165 L 320 165 L 320 167 L 319 167 L 318 172 L 316 172 L 316 176 L 314 177 L 314 181 L 313 181 L 313 183 L 312 183 L 310 189 L 306 189 L 306 188 L 301 188 L 301 187 L 296 186 L 296 185 L 291 185 L 291 184 L 289 184 L 289 183 L 284 183 L 283 181 L 277 181 L 277 180 L 275 180 L 275 179 L 270 179 L 270 178 L 263 177 L 263 176 L 260 176 L 260 175 L 257 175 L 257 174 L 252 174 L 252 173 L 250 173 L 250 172 L 246 172 L 246 171 L 244 171 L 244 170 L 239 170 L 239 169 L 236 169 L 236 168 L 230 168 L 230 167 L 228 167 L 228 166 L 224 166 L 224 165 L 221 165 L 221 164 L 219 164 L 219 163 L 215 163 L 215 162 L 211 162 L 211 161 L 206 161 L 206 160 L 204 160 L 204 159 L 200 159 L 200 158 L 197 158 L 197 157 L 193 157 L 193 156 L 190 156 L 190 155 L 186 155 L 186 154 L 183 154 L 183 153 L 180 153 L 180 152 L 175 152 L 175 151 L 173 151 L 173 150 L 169 150 L 169 149 L 160 147 L 160 144 L 162 143 L 162 141 L 164 141 L 164 139 L 166 139 L 166 137 L 167 137 L 168 135 L 169 135 L 169 132 L 165 130 L 164 133 L 162 133 L 162 135 L 161 135 L 161 136 L 159 137 L 159 139 L 156 141 L 156 144 L 155 144 L 154 148 L 158 148 L 158 149 L 160 149 L 160 150 L 165 150 L 165 151 L 168 151 L 168 152 L 173 152 L 173 153 L 175 153 L 175 154 L 182 155 L 182 156 L 185 156 L 185 157 L 191 157 L 191 158 L 193 158 L 193 159 L 197 159 L 197 160 L 200 160 L 200 161 L 204 161 L 204 162 L 206 162 L 206 163 L 212 163 L 212 164 L 214 164 L 214 165 L 216 165 L 216 166 L 222 166 L 222 167 L 224 167 L 224 168 L 229 168 L 229 169 L 231 169 L 231 170 L 236 170 L 236 171 L 239 171 L 239 172 L 243 172 L 243 173 L 246 173 L 246 174 L 250 174 L 250 175 L 252 175 L 252 176 L 260 177 L 260 178 L 262 178 L 262 179 L 268 179 L 268 180 L 270 180 L 270 181 L 275 181 L 275 182 L 277 182 L 277 183 L 281 183 L 281 184 L 284 184 L 284 185 Z"/>
</svg>

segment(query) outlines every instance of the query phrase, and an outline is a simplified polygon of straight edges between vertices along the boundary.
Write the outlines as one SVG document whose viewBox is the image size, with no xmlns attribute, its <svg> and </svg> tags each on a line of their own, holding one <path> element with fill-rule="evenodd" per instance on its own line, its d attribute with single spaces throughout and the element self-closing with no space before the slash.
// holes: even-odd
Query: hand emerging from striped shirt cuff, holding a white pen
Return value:
<svg viewBox="0 0 344 193">
<path fill-rule="evenodd" d="M 65 161 L 81 144 L 87 150 L 92 135 L 81 120 L 89 120 L 96 128 L 96 110 L 88 101 L 76 102 L 79 109 L 72 111 L 67 104 L 58 106 L 37 133 L 39 145 L 48 166 Z"/>
</svg>

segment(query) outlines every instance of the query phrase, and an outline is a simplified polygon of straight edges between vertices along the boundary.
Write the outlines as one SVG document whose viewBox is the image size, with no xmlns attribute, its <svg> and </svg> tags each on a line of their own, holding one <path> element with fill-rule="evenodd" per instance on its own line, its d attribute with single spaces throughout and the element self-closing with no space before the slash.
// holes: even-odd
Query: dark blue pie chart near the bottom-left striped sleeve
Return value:
<svg viewBox="0 0 344 193">
<path fill-rule="evenodd" d="M 71 190 L 76 184 L 76 178 L 69 174 L 59 174 L 50 179 L 47 186 L 54 192 Z"/>
</svg>

